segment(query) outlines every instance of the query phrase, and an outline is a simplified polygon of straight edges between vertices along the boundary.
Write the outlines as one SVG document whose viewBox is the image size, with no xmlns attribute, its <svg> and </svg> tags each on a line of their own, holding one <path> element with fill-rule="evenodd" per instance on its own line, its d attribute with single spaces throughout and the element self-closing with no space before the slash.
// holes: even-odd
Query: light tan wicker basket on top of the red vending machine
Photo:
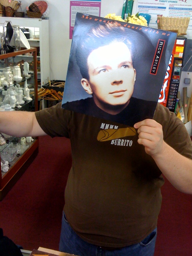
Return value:
<svg viewBox="0 0 192 256">
<path fill-rule="evenodd" d="M 158 29 L 178 31 L 178 36 L 186 35 L 190 17 L 164 17 L 157 15 Z"/>
</svg>

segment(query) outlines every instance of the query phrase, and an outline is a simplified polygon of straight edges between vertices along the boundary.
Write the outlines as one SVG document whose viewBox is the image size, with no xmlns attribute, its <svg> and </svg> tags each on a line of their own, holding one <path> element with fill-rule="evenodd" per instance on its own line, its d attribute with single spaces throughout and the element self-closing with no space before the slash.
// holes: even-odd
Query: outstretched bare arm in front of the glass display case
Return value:
<svg viewBox="0 0 192 256">
<path fill-rule="evenodd" d="M 5 111 L 0 113 L 0 132 L 16 137 L 46 135 L 35 112 Z"/>
</svg>

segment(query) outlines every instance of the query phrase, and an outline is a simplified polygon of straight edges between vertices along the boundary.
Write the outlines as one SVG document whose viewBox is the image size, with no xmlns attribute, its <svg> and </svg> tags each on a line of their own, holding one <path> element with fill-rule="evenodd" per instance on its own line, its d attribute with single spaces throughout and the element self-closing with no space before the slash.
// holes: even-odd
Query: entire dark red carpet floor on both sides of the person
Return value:
<svg viewBox="0 0 192 256">
<path fill-rule="evenodd" d="M 58 250 L 64 189 L 71 166 L 70 142 L 39 138 L 39 154 L 0 202 L 4 235 L 25 250 Z M 192 196 L 166 180 L 155 256 L 192 256 Z"/>
</svg>

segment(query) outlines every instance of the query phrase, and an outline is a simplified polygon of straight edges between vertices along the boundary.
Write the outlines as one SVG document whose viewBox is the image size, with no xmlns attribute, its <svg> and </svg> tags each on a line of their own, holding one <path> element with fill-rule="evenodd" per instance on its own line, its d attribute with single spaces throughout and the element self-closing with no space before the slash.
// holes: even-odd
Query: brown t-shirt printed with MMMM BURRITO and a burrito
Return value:
<svg viewBox="0 0 192 256">
<path fill-rule="evenodd" d="M 48 135 L 71 140 L 64 211 L 75 232 L 99 246 L 143 240 L 157 225 L 164 179 L 134 128 L 64 110 L 61 103 L 36 112 L 36 118 Z M 192 158 L 192 142 L 175 114 L 158 103 L 154 119 L 164 140 Z"/>
</svg>

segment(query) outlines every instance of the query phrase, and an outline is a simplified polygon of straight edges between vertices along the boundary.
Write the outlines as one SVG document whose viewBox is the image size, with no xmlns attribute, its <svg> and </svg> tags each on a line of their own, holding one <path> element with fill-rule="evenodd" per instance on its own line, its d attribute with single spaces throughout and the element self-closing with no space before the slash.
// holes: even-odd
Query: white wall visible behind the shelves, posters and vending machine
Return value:
<svg viewBox="0 0 192 256">
<path fill-rule="evenodd" d="M 71 39 L 69 39 L 69 7 L 70 0 L 48 0 L 49 2 L 49 45 L 50 45 L 50 79 L 65 80 L 67 75 Z M 101 0 L 101 17 L 108 13 L 121 15 L 123 0 Z M 22 0 L 22 10 L 30 5 L 32 0 Z M 187 31 L 187 37 L 192 38 L 192 31 Z M 180 92 L 188 87 L 188 97 L 192 92 L 192 73 L 182 72 L 180 79 Z M 184 78 L 191 78 L 189 85 L 184 84 Z"/>
</svg>

